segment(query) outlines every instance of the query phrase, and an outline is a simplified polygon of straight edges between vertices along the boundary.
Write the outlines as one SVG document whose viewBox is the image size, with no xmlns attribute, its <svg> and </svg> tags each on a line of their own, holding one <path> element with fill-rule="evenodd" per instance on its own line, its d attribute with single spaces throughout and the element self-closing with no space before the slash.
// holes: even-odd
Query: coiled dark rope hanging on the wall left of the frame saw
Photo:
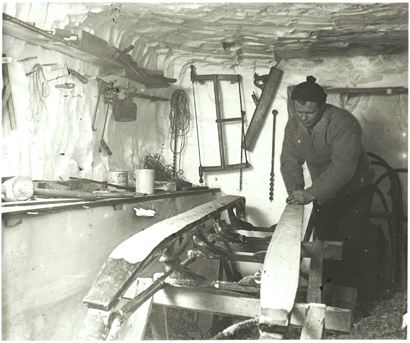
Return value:
<svg viewBox="0 0 410 343">
<path fill-rule="evenodd" d="M 181 153 L 186 146 L 186 136 L 191 126 L 191 114 L 189 113 L 187 96 L 183 90 L 176 90 L 172 93 L 170 102 L 170 147 L 174 154 L 173 171 L 174 176 L 176 176 L 176 172 L 181 166 Z M 178 166 L 177 156 L 179 156 Z"/>
</svg>

